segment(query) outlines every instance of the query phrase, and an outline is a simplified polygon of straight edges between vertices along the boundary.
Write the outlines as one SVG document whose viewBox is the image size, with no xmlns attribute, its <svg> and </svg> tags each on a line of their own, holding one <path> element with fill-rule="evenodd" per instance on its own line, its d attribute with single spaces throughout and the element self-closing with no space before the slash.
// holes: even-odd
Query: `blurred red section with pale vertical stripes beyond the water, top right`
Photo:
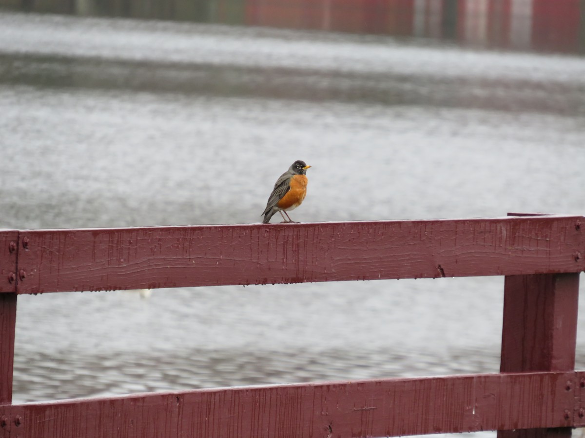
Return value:
<svg viewBox="0 0 585 438">
<path fill-rule="evenodd" d="M 232 0 L 233 1 L 233 0 Z M 247 0 L 245 24 L 585 51 L 585 0 Z"/>
</svg>

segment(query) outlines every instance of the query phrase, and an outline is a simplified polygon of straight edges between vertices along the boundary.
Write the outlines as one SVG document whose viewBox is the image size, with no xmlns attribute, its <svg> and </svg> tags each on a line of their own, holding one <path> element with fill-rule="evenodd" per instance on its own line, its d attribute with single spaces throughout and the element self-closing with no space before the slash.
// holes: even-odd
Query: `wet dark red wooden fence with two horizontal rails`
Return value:
<svg viewBox="0 0 585 438">
<path fill-rule="evenodd" d="M 0 231 L 0 437 L 568 436 L 584 255 L 581 216 Z M 505 276 L 501 374 L 12 404 L 18 294 L 488 275 Z"/>
</svg>

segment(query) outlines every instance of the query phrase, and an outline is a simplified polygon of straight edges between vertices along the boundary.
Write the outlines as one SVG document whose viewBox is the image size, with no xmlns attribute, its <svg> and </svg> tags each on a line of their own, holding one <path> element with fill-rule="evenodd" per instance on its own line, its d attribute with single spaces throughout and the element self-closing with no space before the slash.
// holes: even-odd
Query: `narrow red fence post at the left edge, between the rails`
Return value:
<svg viewBox="0 0 585 438">
<path fill-rule="evenodd" d="M 0 294 L 0 405 L 12 402 L 16 294 Z"/>
</svg>

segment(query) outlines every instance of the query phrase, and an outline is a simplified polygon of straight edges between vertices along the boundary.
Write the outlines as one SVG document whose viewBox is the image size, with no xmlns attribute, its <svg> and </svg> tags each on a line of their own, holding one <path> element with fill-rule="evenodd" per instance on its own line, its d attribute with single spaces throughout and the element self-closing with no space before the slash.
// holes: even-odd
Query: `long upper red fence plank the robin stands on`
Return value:
<svg viewBox="0 0 585 438">
<path fill-rule="evenodd" d="M 18 293 L 580 272 L 583 217 L 22 231 Z"/>
</svg>

